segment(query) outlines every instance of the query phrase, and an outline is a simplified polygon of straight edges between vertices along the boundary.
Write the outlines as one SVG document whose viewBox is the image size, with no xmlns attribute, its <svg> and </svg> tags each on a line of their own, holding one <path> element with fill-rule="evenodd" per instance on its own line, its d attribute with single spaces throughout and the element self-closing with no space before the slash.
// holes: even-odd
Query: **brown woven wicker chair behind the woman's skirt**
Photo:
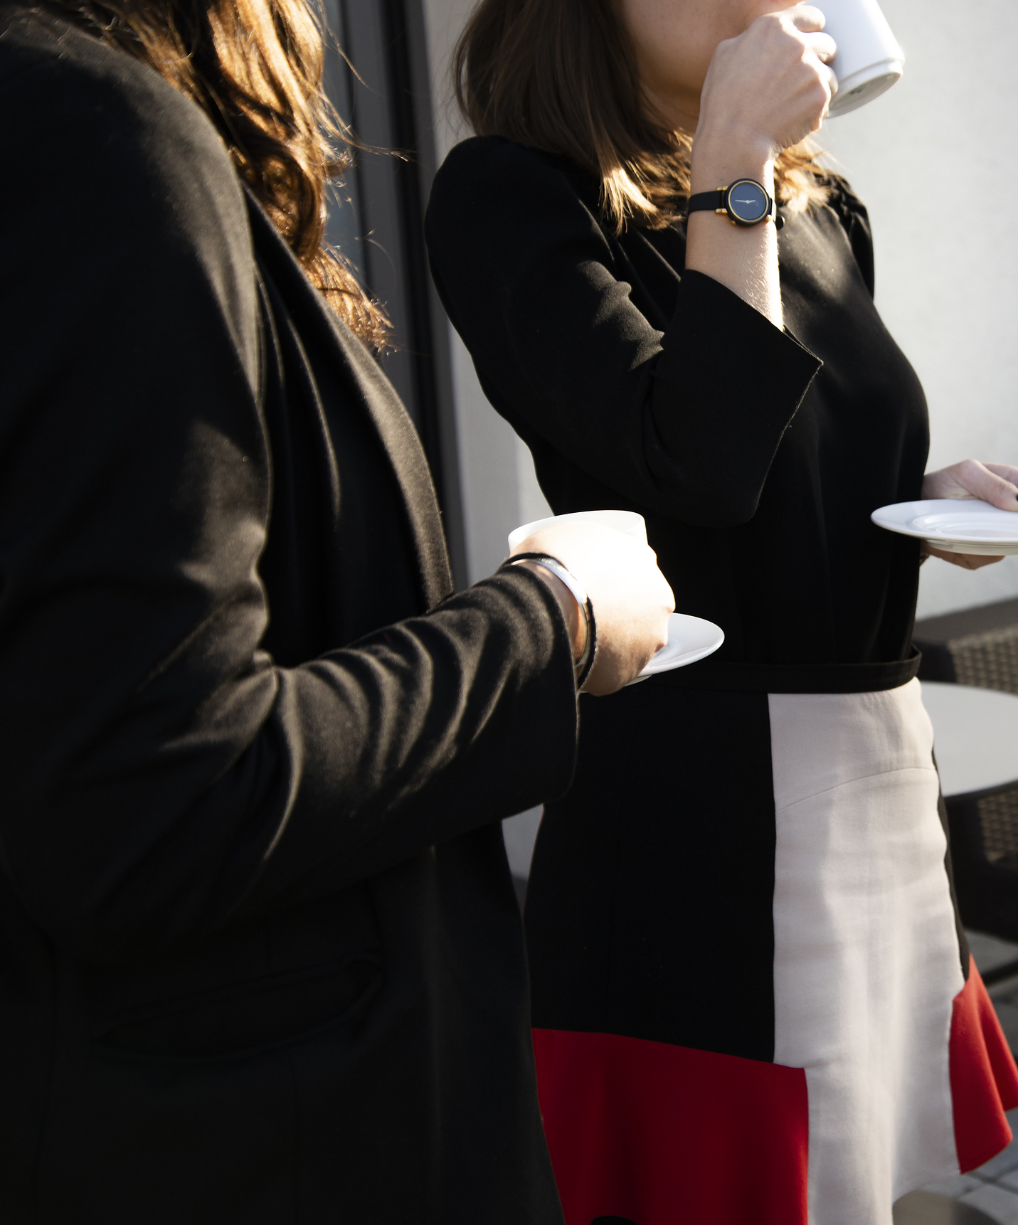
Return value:
<svg viewBox="0 0 1018 1225">
<path fill-rule="evenodd" d="M 920 621 L 915 644 L 921 680 L 1018 693 L 1018 600 Z M 1018 783 L 952 796 L 947 818 L 962 921 L 1018 941 Z"/>
</svg>

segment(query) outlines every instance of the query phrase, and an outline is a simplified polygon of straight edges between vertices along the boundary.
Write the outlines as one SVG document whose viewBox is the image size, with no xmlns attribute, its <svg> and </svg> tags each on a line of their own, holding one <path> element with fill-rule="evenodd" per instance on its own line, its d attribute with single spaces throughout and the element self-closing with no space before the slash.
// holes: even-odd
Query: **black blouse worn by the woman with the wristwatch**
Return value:
<svg viewBox="0 0 1018 1225">
<path fill-rule="evenodd" d="M 685 272 L 682 225 L 616 236 L 597 184 L 501 138 L 450 153 L 426 233 L 556 514 L 642 513 L 679 610 L 724 630 L 719 662 L 893 663 L 919 544 L 870 513 L 919 497 L 926 403 L 873 307 L 862 205 L 835 181 L 829 207 L 784 217 L 784 334 Z"/>
</svg>

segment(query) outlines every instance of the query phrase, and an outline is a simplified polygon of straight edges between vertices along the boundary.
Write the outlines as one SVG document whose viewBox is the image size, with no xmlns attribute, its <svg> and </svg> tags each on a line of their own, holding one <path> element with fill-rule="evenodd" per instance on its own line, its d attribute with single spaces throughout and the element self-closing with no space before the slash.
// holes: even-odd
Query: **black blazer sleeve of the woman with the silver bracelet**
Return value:
<svg viewBox="0 0 1018 1225">
<path fill-rule="evenodd" d="M 301 666 L 260 650 L 244 201 L 195 108 L 123 71 L 0 85 L 38 120 L 0 200 L 0 869 L 97 962 L 561 794 L 576 745 L 565 624 L 518 570 Z"/>
</svg>

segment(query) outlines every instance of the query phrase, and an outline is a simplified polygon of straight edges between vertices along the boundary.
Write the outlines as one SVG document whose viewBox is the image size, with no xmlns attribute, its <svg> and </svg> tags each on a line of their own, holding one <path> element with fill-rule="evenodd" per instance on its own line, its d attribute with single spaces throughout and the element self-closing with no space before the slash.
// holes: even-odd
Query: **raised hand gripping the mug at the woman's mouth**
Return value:
<svg viewBox="0 0 1018 1225">
<path fill-rule="evenodd" d="M 733 163 L 729 176 L 745 174 L 740 159 L 773 160 L 820 127 L 838 89 L 828 67 L 837 47 L 823 24 L 820 10 L 795 5 L 718 43 L 701 94 L 695 170 L 724 151 Z"/>
</svg>

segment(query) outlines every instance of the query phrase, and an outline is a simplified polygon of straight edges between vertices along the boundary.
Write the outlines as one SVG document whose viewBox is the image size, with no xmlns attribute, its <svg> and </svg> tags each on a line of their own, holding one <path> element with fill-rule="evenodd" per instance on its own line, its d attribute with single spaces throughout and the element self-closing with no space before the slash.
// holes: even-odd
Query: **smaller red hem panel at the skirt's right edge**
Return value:
<svg viewBox="0 0 1018 1225">
<path fill-rule="evenodd" d="M 964 1174 L 989 1161 L 1012 1139 L 1005 1110 L 1018 1106 L 1018 1068 L 986 987 L 969 960 L 969 980 L 951 1017 L 951 1100 L 954 1145 Z"/>
</svg>

